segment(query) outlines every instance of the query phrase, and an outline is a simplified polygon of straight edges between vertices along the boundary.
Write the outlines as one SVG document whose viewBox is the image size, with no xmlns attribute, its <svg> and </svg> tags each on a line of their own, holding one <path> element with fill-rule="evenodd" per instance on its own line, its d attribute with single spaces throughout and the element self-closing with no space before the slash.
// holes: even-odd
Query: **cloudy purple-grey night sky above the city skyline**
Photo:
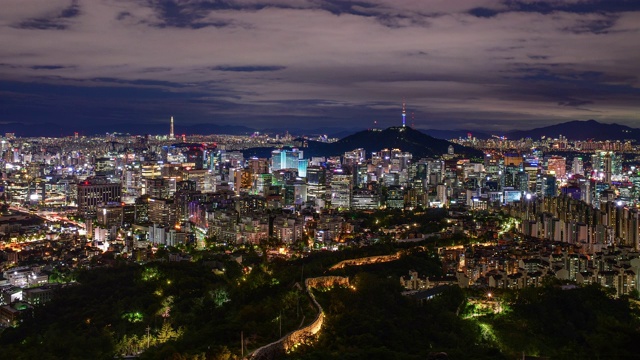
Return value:
<svg viewBox="0 0 640 360">
<path fill-rule="evenodd" d="M 639 75 L 638 0 L 0 0 L 0 124 L 639 127 Z"/>
</svg>

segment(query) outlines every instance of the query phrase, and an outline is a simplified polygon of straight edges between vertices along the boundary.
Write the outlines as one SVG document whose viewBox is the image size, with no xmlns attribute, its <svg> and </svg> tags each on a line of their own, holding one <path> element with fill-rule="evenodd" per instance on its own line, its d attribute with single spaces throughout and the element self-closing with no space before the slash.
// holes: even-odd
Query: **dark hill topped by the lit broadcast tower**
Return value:
<svg viewBox="0 0 640 360">
<path fill-rule="evenodd" d="M 483 156 L 481 151 L 453 144 L 446 140 L 436 139 L 410 127 L 364 130 L 334 143 L 309 141 L 308 144 L 309 146 L 304 149 L 305 157 L 343 155 L 347 151 L 358 148 L 363 148 L 368 153 L 371 153 L 386 148 L 407 151 L 413 154 L 414 159 L 419 159 L 446 154 L 449 145 L 453 145 L 457 154 L 464 154 L 468 157 Z"/>
</svg>

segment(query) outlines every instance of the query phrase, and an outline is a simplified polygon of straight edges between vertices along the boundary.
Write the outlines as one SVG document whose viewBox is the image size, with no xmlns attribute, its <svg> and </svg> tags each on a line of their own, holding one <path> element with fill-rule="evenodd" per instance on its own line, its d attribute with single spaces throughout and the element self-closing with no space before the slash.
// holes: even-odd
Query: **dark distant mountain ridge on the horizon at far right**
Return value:
<svg viewBox="0 0 640 360">
<path fill-rule="evenodd" d="M 515 130 L 506 134 L 509 139 L 532 138 L 543 136 L 557 138 L 560 135 L 569 140 L 636 140 L 640 141 L 640 129 L 619 124 L 603 124 L 595 120 L 569 121 L 532 130 Z"/>
</svg>

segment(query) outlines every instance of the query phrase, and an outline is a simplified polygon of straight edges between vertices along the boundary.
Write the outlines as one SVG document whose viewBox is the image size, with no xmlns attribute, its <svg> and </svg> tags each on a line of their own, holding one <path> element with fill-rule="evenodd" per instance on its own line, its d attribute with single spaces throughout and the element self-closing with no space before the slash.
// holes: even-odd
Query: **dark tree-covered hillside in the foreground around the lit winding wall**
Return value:
<svg viewBox="0 0 640 360">
<path fill-rule="evenodd" d="M 399 277 L 441 275 L 428 242 L 378 243 L 270 262 L 253 249 L 229 256 L 202 252 L 195 262 L 121 263 L 74 274 L 55 299 L 0 336 L 8 359 L 232 359 L 309 324 L 317 309 L 305 278 L 348 276 L 352 288 L 315 291 L 326 314 L 311 345 L 291 359 L 500 359 L 522 353 L 551 358 L 635 356 L 640 312 L 597 286 L 554 282 L 501 292 L 502 312 L 475 311 L 486 290 L 449 287 L 418 303 Z M 329 270 L 345 259 L 396 254 L 398 260 Z M 244 262 L 236 260 L 245 255 Z M 69 276 L 69 274 L 65 274 Z M 62 274 L 60 274 L 62 277 Z M 477 310 L 477 309 L 476 309 Z"/>
</svg>

